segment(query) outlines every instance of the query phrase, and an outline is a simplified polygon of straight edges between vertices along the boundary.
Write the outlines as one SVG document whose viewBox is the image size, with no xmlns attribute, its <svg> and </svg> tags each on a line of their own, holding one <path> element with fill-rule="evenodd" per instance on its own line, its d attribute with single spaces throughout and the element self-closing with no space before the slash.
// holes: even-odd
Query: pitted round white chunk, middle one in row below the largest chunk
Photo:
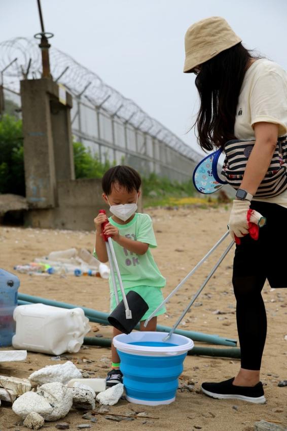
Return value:
<svg viewBox="0 0 287 431">
<path fill-rule="evenodd" d="M 53 410 L 42 415 L 45 420 L 58 420 L 65 417 L 73 405 L 73 393 L 62 383 L 46 383 L 37 389 L 37 394 L 53 406 Z"/>
</svg>

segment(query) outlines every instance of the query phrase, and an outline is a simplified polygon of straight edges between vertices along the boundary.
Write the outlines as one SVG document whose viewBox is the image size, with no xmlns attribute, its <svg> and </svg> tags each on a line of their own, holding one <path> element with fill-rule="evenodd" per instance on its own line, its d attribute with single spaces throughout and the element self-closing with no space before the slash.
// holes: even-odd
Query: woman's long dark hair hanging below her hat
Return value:
<svg viewBox="0 0 287 431">
<path fill-rule="evenodd" d="M 197 126 L 203 150 L 223 147 L 234 139 L 234 123 L 240 88 L 252 55 L 241 43 L 200 65 L 195 85 L 200 96 Z"/>
</svg>

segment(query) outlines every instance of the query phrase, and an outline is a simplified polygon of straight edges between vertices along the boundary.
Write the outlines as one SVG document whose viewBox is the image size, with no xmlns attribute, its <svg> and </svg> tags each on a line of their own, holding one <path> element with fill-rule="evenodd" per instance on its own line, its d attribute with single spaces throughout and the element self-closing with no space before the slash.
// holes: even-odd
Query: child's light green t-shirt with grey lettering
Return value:
<svg viewBox="0 0 287 431">
<path fill-rule="evenodd" d="M 161 275 L 150 250 L 150 248 L 157 247 L 150 216 L 136 212 L 134 218 L 126 225 L 119 225 L 111 217 L 109 222 L 119 229 L 120 235 L 149 244 L 149 248 L 144 255 L 137 255 L 112 240 L 124 288 L 133 288 L 135 286 L 163 288 L 165 278 Z M 97 258 L 95 250 L 94 256 Z M 116 281 L 118 290 L 120 290 L 117 275 Z M 114 292 L 111 275 L 109 283 L 111 292 Z"/>
</svg>

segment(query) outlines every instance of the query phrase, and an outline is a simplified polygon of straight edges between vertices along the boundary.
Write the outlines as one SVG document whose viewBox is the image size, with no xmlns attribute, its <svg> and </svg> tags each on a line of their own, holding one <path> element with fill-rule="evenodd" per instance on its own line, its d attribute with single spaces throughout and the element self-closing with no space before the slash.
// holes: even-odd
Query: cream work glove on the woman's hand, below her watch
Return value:
<svg viewBox="0 0 287 431">
<path fill-rule="evenodd" d="M 248 234 L 247 212 L 250 207 L 250 201 L 234 199 L 229 216 L 228 228 L 229 233 L 235 240 L 234 235 L 238 238 Z M 266 223 L 265 217 L 259 212 L 253 210 L 250 215 L 250 222 L 262 227 Z"/>
</svg>

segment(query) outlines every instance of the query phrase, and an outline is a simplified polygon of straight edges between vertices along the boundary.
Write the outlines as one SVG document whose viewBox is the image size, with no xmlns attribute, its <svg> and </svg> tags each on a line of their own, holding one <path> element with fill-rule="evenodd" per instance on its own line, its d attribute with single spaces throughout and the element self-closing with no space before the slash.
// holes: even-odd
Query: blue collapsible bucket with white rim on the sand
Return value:
<svg viewBox="0 0 287 431">
<path fill-rule="evenodd" d="M 126 399 L 130 403 L 157 406 L 175 400 L 178 377 L 193 341 L 172 334 L 166 342 L 165 332 L 132 332 L 114 337 L 121 359 Z"/>
</svg>

